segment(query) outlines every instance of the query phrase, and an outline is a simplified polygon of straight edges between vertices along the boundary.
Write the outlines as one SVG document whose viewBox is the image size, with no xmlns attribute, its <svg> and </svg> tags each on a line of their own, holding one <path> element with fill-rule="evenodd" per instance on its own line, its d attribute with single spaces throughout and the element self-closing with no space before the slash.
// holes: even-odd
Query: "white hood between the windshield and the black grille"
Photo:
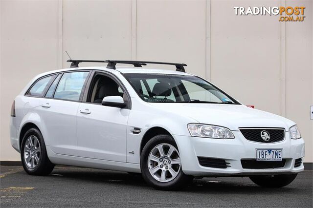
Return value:
<svg viewBox="0 0 313 208">
<path fill-rule="evenodd" d="M 240 127 L 278 127 L 287 131 L 295 125 L 289 119 L 253 109 L 246 105 L 235 104 L 179 104 L 179 103 L 150 103 L 163 111 L 187 116 L 201 124 L 220 125 L 230 130 Z"/>
</svg>

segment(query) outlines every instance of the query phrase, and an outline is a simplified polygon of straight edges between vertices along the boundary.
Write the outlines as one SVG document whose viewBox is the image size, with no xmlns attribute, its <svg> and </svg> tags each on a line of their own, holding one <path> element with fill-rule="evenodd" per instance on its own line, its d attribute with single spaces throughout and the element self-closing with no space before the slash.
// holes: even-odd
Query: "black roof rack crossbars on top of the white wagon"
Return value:
<svg viewBox="0 0 313 208">
<path fill-rule="evenodd" d="M 164 65 L 175 65 L 176 71 L 185 72 L 184 66 L 187 66 L 185 63 L 169 63 L 169 62 L 144 62 L 144 61 L 118 61 L 118 60 L 105 60 L 105 61 L 98 61 L 98 60 L 67 60 L 67 62 L 71 62 L 70 67 L 78 67 L 80 62 L 99 62 L 99 63 L 108 63 L 107 68 L 109 69 L 116 69 L 116 63 L 123 63 L 123 64 L 132 64 L 135 67 L 141 67 L 142 65 L 147 65 L 147 63 L 153 64 L 164 64 Z"/>
</svg>

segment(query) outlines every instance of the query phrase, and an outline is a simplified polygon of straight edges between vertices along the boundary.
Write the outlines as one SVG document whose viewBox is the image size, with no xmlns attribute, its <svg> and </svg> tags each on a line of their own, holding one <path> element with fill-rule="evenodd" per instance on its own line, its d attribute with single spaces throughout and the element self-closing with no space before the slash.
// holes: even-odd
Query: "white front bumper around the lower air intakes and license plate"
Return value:
<svg viewBox="0 0 313 208">
<path fill-rule="evenodd" d="M 304 157 L 304 140 L 290 139 L 285 132 L 285 140 L 277 143 L 256 143 L 246 140 L 240 131 L 232 131 L 235 139 L 210 139 L 201 137 L 174 135 L 178 144 L 182 171 L 193 176 L 248 176 L 267 174 L 292 174 L 304 170 L 294 167 L 295 160 Z M 255 159 L 256 149 L 283 149 L 285 166 L 266 169 L 243 168 L 241 159 Z M 229 163 L 227 168 L 201 166 L 198 157 L 223 159 Z"/>
</svg>

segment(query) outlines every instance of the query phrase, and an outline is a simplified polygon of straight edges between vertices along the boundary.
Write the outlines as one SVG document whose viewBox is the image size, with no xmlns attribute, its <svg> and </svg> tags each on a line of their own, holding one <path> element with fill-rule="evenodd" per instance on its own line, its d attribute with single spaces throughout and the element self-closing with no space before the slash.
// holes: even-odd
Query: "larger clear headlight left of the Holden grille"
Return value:
<svg viewBox="0 0 313 208">
<path fill-rule="evenodd" d="M 188 130 L 193 137 L 207 137 L 216 139 L 235 138 L 228 128 L 216 125 L 188 124 Z"/>
</svg>

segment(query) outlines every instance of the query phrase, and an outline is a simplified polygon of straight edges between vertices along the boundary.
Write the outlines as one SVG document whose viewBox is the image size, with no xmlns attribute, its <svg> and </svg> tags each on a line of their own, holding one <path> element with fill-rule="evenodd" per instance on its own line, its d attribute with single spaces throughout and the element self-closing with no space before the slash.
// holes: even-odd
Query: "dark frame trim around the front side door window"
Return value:
<svg viewBox="0 0 313 208">
<path fill-rule="evenodd" d="M 114 82 L 116 82 L 124 91 L 124 93 L 126 93 L 126 97 L 127 97 L 127 106 L 125 107 L 126 109 L 132 109 L 132 100 L 131 100 L 131 96 L 129 95 L 128 90 L 126 89 L 125 85 L 122 83 L 122 81 L 120 81 L 120 79 L 118 77 L 116 77 L 116 75 L 108 72 L 108 71 L 100 71 L 100 70 L 93 70 L 92 74 L 90 73 L 89 76 L 89 81 L 88 84 L 86 85 L 85 91 L 84 91 L 84 96 L 83 96 L 83 100 L 82 103 L 87 103 L 87 104 L 95 104 L 95 103 L 89 103 L 87 102 L 88 99 L 88 94 L 90 91 L 90 86 L 91 83 L 93 81 L 93 78 L 95 78 L 96 75 L 103 75 L 103 76 L 107 76 L 109 78 L 111 78 Z M 99 105 L 99 104 L 97 104 Z"/>
</svg>

